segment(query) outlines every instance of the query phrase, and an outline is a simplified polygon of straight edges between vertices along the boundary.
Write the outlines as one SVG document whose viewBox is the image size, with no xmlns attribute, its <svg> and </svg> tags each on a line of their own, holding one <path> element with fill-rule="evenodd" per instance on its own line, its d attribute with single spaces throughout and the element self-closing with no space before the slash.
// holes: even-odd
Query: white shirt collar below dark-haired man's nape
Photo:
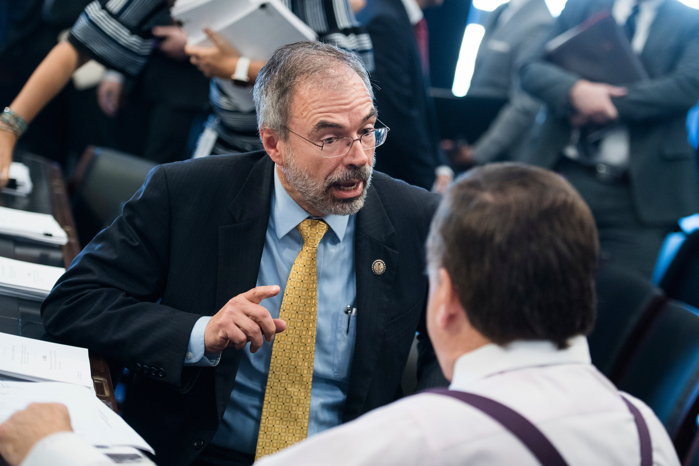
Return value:
<svg viewBox="0 0 699 466">
<path fill-rule="evenodd" d="M 460 390 L 473 381 L 525 367 L 590 363 L 590 351 L 584 335 L 570 338 L 566 349 L 558 349 L 552 342 L 541 340 L 520 340 L 505 347 L 490 343 L 456 360 L 449 388 Z"/>
</svg>

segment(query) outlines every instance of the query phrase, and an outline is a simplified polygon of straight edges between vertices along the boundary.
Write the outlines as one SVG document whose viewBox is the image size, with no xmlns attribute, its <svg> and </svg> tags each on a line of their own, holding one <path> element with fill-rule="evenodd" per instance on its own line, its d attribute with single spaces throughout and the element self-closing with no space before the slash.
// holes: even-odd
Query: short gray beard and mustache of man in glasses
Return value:
<svg viewBox="0 0 699 466">
<path fill-rule="evenodd" d="M 296 164 L 296 158 L 289 151 L 282 172 L 287 177 L 289 184 L 298 191 L 298 194 L 301 194 L 303 201 L 313 209 L 323 212 L 323 215 L 352 215 L 359 212 L 359 209 L 364 205 L 366 192 L 371 184 L 374 161 L 375 159 L 372 157 L 371 166 L 341 168 L 328 175 L 325 180 L 316 180 L 310 173 L 306 173 Z M 330 191 L 333 184 L 350 180 L 363 182 L 359 196 L 352 199 L 338 199 L 333 196 Z"/>
</svg>

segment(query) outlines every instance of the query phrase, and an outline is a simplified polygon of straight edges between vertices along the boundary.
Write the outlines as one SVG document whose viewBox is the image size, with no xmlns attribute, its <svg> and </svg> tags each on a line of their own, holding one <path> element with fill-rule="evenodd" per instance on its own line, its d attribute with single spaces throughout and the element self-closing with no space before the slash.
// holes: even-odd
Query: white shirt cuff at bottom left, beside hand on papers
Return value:
<svg viewBox="0 0 699 466">
<path fill-rule="evenodd" d="M 36 442 L 20 466 L 109 466 L 114 463 L 73 432 L 57 432 Z"/>
</svg>

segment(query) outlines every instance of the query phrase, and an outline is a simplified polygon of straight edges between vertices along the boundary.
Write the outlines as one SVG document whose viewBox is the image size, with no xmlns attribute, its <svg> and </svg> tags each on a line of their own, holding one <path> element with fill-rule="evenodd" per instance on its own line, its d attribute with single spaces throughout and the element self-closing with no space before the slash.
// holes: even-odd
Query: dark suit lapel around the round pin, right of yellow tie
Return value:
<svg viewBox="0 0 699 466">
<path fill-rule="evenodd" d="M 361 412 L 375 377 L 376 359 L 383 341 L 383 324 L 398 266 L 398 251 L 390 247 L 394 231 L 377 191 L 370 187 L 366 202 L 357 213 L 354 233 L 356 343 L 343 421 Z M 372 265 L 377 260 L 386 264 L 385 271 L 380 275 L 372 271 Z"/>
</svg>

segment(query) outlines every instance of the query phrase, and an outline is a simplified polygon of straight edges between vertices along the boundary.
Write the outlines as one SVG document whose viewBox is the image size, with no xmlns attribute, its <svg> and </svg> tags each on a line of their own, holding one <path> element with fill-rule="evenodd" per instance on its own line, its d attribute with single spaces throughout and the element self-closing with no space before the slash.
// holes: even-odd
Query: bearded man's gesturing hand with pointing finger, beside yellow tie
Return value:
<svg viewBox="0 0 699 466">
<path fill-rule="evenodd" d="M 226 347 L 236 349 L 250 343 L 250 352 L 262 346 L 262 337 L 271 342 L 275 333 L 286 330 L 282 319 L 272 319 L 269 311 L 259 305 L 261 300 L 277 296 L 279 286 L 257 286 L 250 291 L 231 298 L 211 318 L 204 330 L 204 351 L 218 353 Z"/>
</svg>

